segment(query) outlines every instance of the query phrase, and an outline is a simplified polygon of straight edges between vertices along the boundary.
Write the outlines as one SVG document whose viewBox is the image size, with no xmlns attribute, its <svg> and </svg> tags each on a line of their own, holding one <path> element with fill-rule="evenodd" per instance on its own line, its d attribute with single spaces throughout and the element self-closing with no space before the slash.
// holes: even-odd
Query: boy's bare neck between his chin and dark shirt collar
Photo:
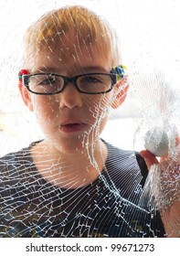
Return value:
<svg viewBox="0 0 180 256">
<path fill-rule="evenodd" d="M 85 187 L 98 178 L 105 165 L 108 149 L 99 140 L 83 151 L 64 154 L 53 149 L 46 141 L 30 151 L 37 171 L 57 187 Z"/>
</svg>

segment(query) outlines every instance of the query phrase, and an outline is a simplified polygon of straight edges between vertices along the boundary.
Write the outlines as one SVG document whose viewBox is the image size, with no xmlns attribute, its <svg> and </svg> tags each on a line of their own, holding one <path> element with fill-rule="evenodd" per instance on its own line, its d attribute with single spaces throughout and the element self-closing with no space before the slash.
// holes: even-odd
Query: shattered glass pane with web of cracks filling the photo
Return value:
<svg viewBox="0 0 180 256">
<path fill-rule="evenodd" d="M 1 4 L 0 237 L 179 237 L 178 14 L 62 2 Z"/>
</svg>

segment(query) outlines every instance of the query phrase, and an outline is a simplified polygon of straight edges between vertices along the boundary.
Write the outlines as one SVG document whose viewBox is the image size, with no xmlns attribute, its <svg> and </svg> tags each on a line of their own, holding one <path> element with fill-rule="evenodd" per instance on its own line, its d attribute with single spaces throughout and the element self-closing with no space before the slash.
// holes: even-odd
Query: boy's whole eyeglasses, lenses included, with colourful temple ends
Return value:
<svg viewBox="0 0 180 256">
<path fill-rule="evenodd" d="M 117 68 L 116 68 L 117 69 Z M 89 73 L 81 74 L 72 78 L 53 73 L 28 74 L 26 70 L 19 72 L 19 79 L 28 91 L 38 95 L 58 94 L 72 82 L 76 89 L 86 94 L 103 94 L 111 91 L 114 85 L 121 80 L 125 74 L 124 67 L 119 66 L 118 73 L 116 69 L 111 69 L 111 73 Z"/>
</svg>

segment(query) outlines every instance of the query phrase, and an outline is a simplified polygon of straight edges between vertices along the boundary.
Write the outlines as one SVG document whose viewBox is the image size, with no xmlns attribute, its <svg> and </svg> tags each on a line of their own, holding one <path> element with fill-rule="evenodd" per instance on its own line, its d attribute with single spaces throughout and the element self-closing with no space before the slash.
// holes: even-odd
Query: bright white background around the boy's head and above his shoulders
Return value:
<svg viewBox="0 0 180 256">
<path fill-rule="evenodd" d="M 154 80 L 156 73 L 162 74 L 164 82 L 172 88 L 172 101 L 179 101 L 179 0 L 2 0 L 0 155 L 20 149 L 41 136 L 34 116 L 26 111 L 17 90 L 22 42 L 26 28 L 33 21 L 64 5 L 90 7 L 106 17 L 121 37 L 122 62 L 128 68 L 132 89 L 122 108 L 111 115 L 111 122 L 102 134 L 104 138 L 123 148 L 133 148 L 142 110 L 158 101 L 155 98 L 159 86 Z M 175 118 L 179 118 L 179 113 Z"/>
</svg>

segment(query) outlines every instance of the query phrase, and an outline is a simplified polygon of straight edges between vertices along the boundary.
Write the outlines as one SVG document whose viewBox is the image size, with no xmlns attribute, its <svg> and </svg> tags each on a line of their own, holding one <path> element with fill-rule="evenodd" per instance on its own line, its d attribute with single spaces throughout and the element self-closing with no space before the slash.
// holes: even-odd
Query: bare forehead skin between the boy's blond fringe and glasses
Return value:
<svg viewBox="0 0 180 256">
<path fill-rule="evenodd" d="M 101 42 L 93 44 L 79 41 L 78 37 L 62 37 L 54 40 L 48 46 L 38 49 L 32 54 L 33 70 L 47 71 L 53 69 L 65 75 L 87 71 L 110 71 L 112 65 L 111 54 L 101 47 Z M 85 70 L 86 69 L 86 70 Z M 49 70 L 51 71 L 51 70 Z"/>
</svg>

